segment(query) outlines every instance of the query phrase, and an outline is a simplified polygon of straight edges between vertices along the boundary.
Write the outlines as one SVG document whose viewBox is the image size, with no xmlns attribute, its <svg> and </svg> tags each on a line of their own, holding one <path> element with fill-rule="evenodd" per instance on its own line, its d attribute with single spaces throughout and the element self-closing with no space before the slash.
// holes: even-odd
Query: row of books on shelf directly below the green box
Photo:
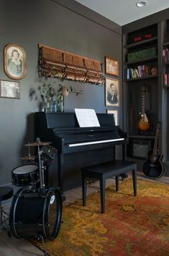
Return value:
<svg viewBox="0 0 169 256">
<path fill-rule="evenodd" d="M 152 74 L 152 66 L 150 65 L 140 65 L 136 68 L 127 69 L 127 79 L 137 78 L 137 77 L 148 77 Z"/>
</svg>

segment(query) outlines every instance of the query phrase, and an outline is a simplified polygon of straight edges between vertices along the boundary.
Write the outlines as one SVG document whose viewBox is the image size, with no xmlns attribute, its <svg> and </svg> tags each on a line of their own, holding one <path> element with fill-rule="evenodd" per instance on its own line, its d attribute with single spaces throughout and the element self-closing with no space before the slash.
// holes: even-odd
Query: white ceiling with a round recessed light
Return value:
<svg viewBox="0 0 169 256">
<path fill-rule="evenodd" d="M 76 1 L 121 26 L 169 8 L 168 0 L 147 0 L 147 5 L 140 8 L 136 7 L 137 0 Z"/>
</svg>

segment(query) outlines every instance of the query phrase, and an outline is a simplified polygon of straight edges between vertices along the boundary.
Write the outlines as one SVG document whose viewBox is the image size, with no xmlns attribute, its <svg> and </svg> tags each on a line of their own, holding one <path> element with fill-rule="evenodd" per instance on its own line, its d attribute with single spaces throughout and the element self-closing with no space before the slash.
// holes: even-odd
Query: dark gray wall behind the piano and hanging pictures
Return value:
<svg viewBox="0 0 169 256">
<path fill-rule="evenodd" d="M 38 78 L 37 44 L 42 43 L 101 62 L 104 62 L 104 56 L 119 59 L 122 99 L 122 35 L 120 26 L 73 0 L 1 0 L 0 35 L 0 79 L 10 80 L 4 72 L 3 56 L 6 44 L 17 43 L 27 54 L 27 75 L 20 80 L 21 99 L 0 98 L 0 185 L 2 185 L 11 183 L 12 169 L 21 164 L 21 155 L 27 153 L 24 143 L 34 140 L 34 122 L 31 114 L 40 110 L 40 92 L 37 88 L 45 81 Z M 47 82 L 56 82 L 55 86 L 58 88 L 57 79 Z M 63 85 L 68 87 L 71 85 L 75 90 L 83 90 L 82 95 L 70 94 L 65 99 L 65 111 L 73 111 L 74 108 L 94 108 L 100 113 L 106 111 L 104 86 L 81 85 L 79 82 L 67 80 Z M 29 95 L 31 89 L 35 90 L 32 97 Z M 120 102 L 119 121 L 122 123 L 122 100 Z"/>
</svg>

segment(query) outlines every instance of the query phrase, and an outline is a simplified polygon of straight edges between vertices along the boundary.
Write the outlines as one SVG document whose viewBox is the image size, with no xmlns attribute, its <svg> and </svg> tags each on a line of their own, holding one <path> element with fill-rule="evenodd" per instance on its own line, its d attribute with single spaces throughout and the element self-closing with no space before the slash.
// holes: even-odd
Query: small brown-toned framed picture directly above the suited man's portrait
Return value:
<svg viewBox="0 0 169 256">
<path fill-rule="evenodd" d="M 106 57 L 105 64 L 106 74 L 114 75 L 116 77 L 119 75 L 119 61 L 117 59 Z"/>
</svg>

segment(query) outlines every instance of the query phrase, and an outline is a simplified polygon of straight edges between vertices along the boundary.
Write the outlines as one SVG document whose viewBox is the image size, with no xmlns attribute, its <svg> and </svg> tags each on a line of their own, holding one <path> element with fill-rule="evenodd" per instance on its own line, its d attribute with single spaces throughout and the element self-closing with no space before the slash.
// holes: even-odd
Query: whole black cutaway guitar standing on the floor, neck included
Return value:
<svg viewBox="0 0 169 256">
<path fill-rule="evenodd" d="M 143 174 L 152 179 L 160 178 L 163 176 L 163 174 L 165 174 L 165 166 L 162 163 L 163 155 L 159 154 L 159 150 L 157 150 L 157 140 L 159 137 L 160 128 L 161 122 L 158 122 L 155 132 L 153 150 L 149 150 L 148 158 L 142 166 Z"/>
</svg>

